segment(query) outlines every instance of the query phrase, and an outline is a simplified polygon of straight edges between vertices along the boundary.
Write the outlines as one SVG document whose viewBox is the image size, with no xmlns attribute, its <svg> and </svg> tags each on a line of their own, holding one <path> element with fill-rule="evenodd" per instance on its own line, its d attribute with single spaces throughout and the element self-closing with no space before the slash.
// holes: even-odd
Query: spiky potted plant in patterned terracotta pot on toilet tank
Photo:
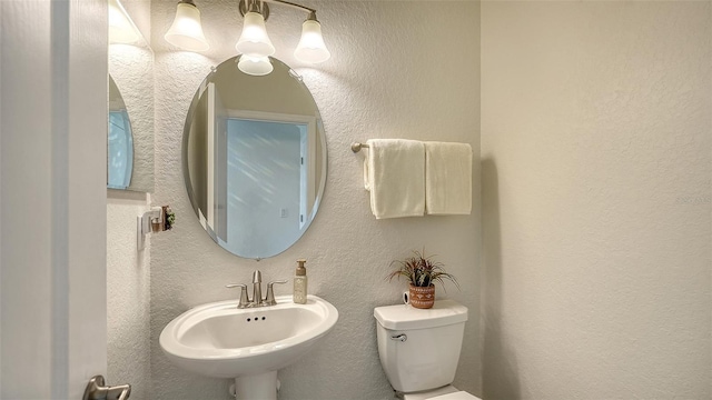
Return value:
<svg viewBox="0 0 712 400">
<path fill-rule="evenodd" d="M 455 276 L 445 272 L 445 266 L 442 262 L 433 261 L 434 256 L 425 257 L 425 250 L 423 252 L 414 250 L 413 254 L 405 260 L 392 261 L 390 266 L 396 264 L 397 268 L 387 277 L 388 280 L 405 277 L 409 281 L 411 306 L 421 309 L 432 308 L 435 302 L 435 282 L 443 284 L 444 289 L 444 280 L 447 279 L 459 289 Z"/>
</svg>

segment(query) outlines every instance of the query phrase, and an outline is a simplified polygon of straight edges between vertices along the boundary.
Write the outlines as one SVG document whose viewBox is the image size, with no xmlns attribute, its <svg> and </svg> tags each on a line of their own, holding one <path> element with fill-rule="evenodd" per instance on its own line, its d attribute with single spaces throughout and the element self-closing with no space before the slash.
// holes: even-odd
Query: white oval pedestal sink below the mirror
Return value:
<svg viewBox="0 0 712 400">
<path fill-rule="evenodd" d="M 338 320 L 328 301 L 291 296 L 270 307 L 238 309 L 237 300 L 192 308 L 170 321 L 160 347 L 176 366 L 212 378 L 235 378 L 237 398 L 277 399 L 277 370 L 306 354 Z"/>
</svg>

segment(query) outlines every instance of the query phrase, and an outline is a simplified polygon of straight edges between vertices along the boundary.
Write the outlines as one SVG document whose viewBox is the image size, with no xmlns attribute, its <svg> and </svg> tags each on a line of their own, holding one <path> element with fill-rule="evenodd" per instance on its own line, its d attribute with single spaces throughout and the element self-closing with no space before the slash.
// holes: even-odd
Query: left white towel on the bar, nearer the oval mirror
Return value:
<svg viewBox="0 0 712 400">
<path fill-rule="evenodd" d="M 405 139 L 370 139 L 364 186 L 376 219 L 425 213 L 425 146 Z"/>
</svg>

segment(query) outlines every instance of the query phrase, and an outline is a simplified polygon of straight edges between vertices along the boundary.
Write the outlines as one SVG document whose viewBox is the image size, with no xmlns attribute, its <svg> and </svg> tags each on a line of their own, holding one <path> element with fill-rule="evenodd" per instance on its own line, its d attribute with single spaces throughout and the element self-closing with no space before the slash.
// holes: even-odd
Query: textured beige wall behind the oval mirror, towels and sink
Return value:
<svg viewBox="0 0 712 400">
<path fill-rule="evenodd" d="M 162 328 L 196 304 L 235 298 L 224 288 L 247 282 L 255 268 L 264 278 L 294 276 L 307 258 L 309 292 L 340 312 L 323 346 L 280 371 L 280 399 L 390 399 L 393 392 L 376 350 L 373 309 L 396 303 L 405 283 L 384 280 L 392 260 L 426 248 L 455 273 L 462 291 L 447 294 L 469 307 L 459 388 L 479 392 L 479 162 L 475 158 L 473 214 L 376 221 L 363 189 L 363 154 L 352 141 L 409 138 L 459 141 L 479 153 L 478 42 L 476 2 L 309 2 L 318 9 L 333 58 L 309 68 L 291 54 L 304 14 L 273 7 L 268 23 L 277 58 L 304 76 L 322 111 L 328 142 L 328 181 L 316 220 L 284 253 L 260 261 L 220 249 L 200 228 L 181 172 L 181 134 L 190 100 L 210 66 L 235 54 L 241 22 L 236 1 L 199 1 L 211 49 L 175 51 L 164 42 L 176 4 L 151 4 L 156 51 L 155 200 L 177 213 L 172 231 L 151 244 L 152 399 L 228 399 L 229 380 L 212 380 L 171 366 L 158 346 Z M 456 39 L 456 40 L 453 40 Z M 289 287 L 276 288 L 290 293 Z M 443 294 L 442 290 L 439 291 Z"/>
</svg>

